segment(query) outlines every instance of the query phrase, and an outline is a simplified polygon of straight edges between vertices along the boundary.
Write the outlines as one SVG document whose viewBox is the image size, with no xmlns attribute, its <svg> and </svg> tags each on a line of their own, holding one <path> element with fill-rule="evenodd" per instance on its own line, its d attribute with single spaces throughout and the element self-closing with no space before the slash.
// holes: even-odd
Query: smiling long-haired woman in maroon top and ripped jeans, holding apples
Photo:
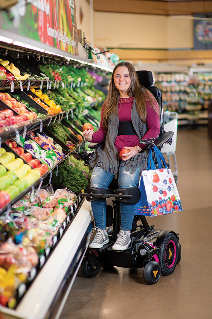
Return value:
<svg viewBox="0 0 212 319">
<path fill-rule="evenodd" d="M 129 62 L 114 68 L 107 100 L 102 105 L 100 129 L 83 131 L 87 141 L 102 143 L 89 159 L 93 169 L 90 187 L 108 188 L 118 177 L 118 188 L 137 187 L 138 177 L 146 169 L 148 152 L 139 142 L 159 135 L 159 106 L 153 95 L 141 86 Z M 125 152 L 125 154 L 123 154 Z M 96 235 L 90 248 L 102 248 L 109 242 L 106 232 L 106 199 L 91 201 Z M 121 229 L 113 250 L 124 250 L 131 243 L 130 230 L 136 204 L 120 203 Z"/>
</svg>

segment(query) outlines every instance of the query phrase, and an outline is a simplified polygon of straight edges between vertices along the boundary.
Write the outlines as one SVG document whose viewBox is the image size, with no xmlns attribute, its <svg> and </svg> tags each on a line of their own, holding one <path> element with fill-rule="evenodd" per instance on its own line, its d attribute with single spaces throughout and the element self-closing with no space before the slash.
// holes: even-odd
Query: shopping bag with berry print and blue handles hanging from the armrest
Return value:
<svg viewBox="0 0 212 319">
<path fill-rule="evenodd" d="M 143 171 L 138 183 L 141 198 L 137 203 L 135 215 L 157 216 L 183 211 L 177 186 L 166 160 L 157 147 L 153 147 L 158 163 L 156 169 L 152 159 L 152 149 L 149 152 L 147 170 Z M 162 162 L 165 168 L 162 168 Z"/>
</svg>

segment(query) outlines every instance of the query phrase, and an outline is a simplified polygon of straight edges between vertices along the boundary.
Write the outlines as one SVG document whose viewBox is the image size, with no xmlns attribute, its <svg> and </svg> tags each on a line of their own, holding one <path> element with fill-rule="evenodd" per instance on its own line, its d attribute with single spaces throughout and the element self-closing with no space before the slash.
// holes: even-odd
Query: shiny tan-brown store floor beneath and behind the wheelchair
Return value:
<svg viewBox="0 0 212 319">
<path fill-rule="evenodd" d="M 147 285 L 143 268 L 79 271 L 60 319 L 212 318 L 212 140 L 206 128 L 178 130 L 178 191 L 184 211 L 148 218 L 180 234 L 181 262 Z"/>
</svg>

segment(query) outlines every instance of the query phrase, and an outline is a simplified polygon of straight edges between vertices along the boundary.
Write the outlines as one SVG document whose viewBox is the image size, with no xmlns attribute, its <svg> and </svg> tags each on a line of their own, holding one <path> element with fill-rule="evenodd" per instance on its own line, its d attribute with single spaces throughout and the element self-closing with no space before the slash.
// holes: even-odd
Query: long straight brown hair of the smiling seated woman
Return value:
<svg viewBox="0 0 212 319">
<path fill-rule="evenodd" d="M 117 103 L 119 100 L 119 90 L 114 84 L 114 74 L 116 72 L 116 69 L 119 66 L 126 66 L 129 70 L 130 78 L 131 78 L 131 84 L 128 89 L 127 95 L 129 96 L 135 96 L 136 100 L 136 108 L 138 115 L 140 116 L 142 122 L 146 123 L 146 103 L 145 103 L 145 96 L 150 101 L 152 107 L 154 108 L 155 112 L 159 114 L 159 111 L 153 104 L 152 100 L 155 98 L 150 95 L 149 91 L 139 83 L 138 75 L 133 67 L 133 65 L 129 62 L 121 62 L 115 66 L 113 69 L 113 73 L 110 80 L 110 86 L 109 86 L 109 92 L 108 92 L 108 98 L 106 102 L 106 106 L 104 109 L 104 115 L 102 119 L 102 124 L 105 128 L 108 128 L 108 118 L 110 113 L 118 115 L 117 113 Z M 156 101 L 156 100 L 155 100 Z"/>
</svg>

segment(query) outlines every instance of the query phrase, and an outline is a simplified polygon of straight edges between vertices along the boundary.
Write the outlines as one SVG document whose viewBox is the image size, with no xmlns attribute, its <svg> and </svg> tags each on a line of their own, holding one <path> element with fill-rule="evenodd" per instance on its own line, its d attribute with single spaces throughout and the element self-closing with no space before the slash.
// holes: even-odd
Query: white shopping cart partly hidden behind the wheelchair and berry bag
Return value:
<svg viewBox="0 0 212 319">
<path fill-rule="evenodd" d="M 176 112 L 167 112 L 164 114 L 164 130 L 166 132 L 173 131 L 174 136 L 172 138 L 172 144 L 164 144 L 163 148 L 161 149 L 161 152 L 163 154 L 166 154 L 169 167 L 172 170 L 172 174 L 174 176 L 174 180 L 177 183 L 178 182 L 178 170 L 177 170 L 177 160 L 175 155 L 176 150 L 176 143 L 177 143 L 177 117 L 178 113 Z M 173 156 L 173 164 L 171 160 L 171 155 Z"/>
</svg>

